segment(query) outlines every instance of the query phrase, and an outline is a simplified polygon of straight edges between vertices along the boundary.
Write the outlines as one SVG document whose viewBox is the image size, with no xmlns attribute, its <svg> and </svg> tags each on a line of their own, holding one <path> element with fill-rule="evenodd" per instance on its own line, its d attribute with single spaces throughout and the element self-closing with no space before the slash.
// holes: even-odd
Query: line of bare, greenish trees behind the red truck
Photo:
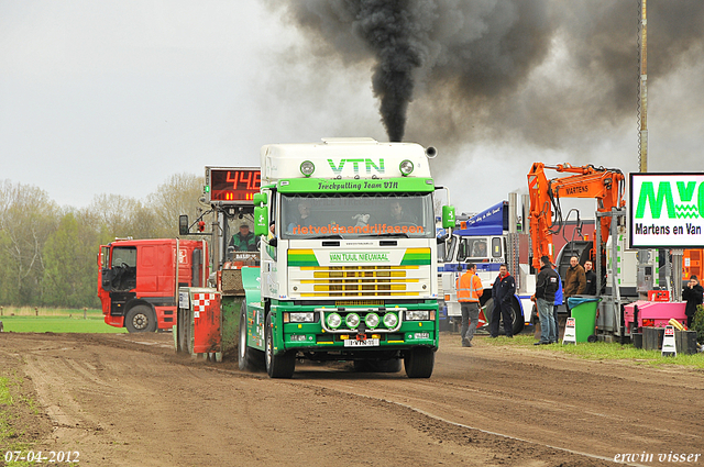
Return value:
<svg viewBox="0 0 704 467">
<path fill-rule="evenodd" d="M 144 200 L 99 194 L 76 209 L 35 186 L 0 181 L 0 304 L 100 308 L 99 246 L 116 237 L 175 238 L 178 215 L 205 209 L 204 184 L 176 174 Z"/>
</svg>

